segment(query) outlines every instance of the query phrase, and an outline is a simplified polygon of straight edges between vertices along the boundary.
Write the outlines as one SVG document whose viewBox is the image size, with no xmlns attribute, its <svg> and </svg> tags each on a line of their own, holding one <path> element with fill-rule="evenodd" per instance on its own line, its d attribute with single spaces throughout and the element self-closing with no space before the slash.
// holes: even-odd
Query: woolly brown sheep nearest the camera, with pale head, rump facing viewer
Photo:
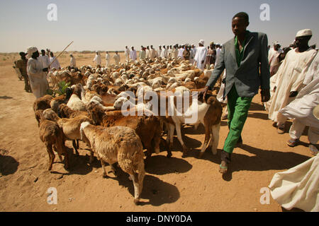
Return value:
<svg viewBox="0 0 319 226">
<path fill-rule="evenodd" d="M 121 169 L 130 175 L 134 185 L 134 203 L 138 205 L 145 177 L 144 154 L 140 138 L 133 129 L 125 126 L 103 127 L 84 122 L 80 127 L 82 141 L 101 160 L 103 177 L 107 177 L 104 162 L 118 162 Z M 114 168 L 113 168 L 114 169 Z"/>
</svg>

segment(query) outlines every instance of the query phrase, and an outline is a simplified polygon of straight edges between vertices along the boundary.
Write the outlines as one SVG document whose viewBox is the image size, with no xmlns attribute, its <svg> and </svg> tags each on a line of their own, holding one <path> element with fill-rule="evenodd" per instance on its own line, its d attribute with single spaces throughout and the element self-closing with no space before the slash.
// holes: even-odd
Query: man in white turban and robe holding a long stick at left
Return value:
<svg viewBox="0 0 319 226">
<path fill-rule="evenodd" d="M 35 95 L 35 98 L 43 97 L 49 87 L 47 83 L 47 76 L 45 74 L 48 69 L 43 68 L 42 62 L 38 60 L 40 54 L 36 47 L 28 47 L 27 53 L 29 58 L 27 63 L 27 73 L 32 93 Z"/>
</svg>

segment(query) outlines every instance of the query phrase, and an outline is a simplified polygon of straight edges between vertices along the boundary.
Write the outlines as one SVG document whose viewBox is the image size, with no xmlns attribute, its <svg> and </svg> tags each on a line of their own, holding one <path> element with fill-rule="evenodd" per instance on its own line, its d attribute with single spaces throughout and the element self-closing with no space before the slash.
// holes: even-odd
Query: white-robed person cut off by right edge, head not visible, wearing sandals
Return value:
<svg viewBox="0 0 319 226">
<path fill-rule="evenodd" d="M 310 153 L 318 154 L 318 148 L 315 145 L 319 141 L 319 120 L 313 117 L 313 109 L 319 105 L 319 54 L 316 54 L 315 59 L 311 63 L 308 73 L 303 80 L 303 85 L 306 85 L 289 105 L 279 110 L 284 116 L 293 119 L 293 124 L 290 127 L 289 135 L 291 139 L 287 144 L 294 147 L 300 143 L 303 130 L 306 126 L 308 129 L 308 140 Z"/>
</svg>

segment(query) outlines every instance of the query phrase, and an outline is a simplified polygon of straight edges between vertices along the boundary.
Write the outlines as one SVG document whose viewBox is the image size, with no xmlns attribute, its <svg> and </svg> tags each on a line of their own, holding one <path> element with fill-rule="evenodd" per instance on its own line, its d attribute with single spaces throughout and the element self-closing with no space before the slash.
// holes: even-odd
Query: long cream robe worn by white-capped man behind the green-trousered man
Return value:
<svg viewBox="0 0 319 226">
<path fill-rule="evenodd" d="M 270 104 L 266 105 L 269 119 L 284 122 L 284 120 L 279 120 L 282 117 L 278 112 L 295 99 L 295 97 L 289 97 L 291 91 L 301 90 L 303 79 L 315 54 L 317 51 L 311 48 L 302 53 L 292 49 L 286 54 L 277 73 L 270 78 L 271 89 L 273 90 L 276 86 L 276 91 L 270 97 Z"/>
</svg>

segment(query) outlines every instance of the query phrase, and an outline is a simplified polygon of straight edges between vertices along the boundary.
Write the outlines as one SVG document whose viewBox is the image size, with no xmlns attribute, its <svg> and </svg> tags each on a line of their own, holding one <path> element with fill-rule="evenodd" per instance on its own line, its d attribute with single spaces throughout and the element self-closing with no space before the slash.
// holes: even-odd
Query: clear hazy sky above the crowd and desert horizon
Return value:
<svg viewBox="0 0 319 226">
<path fill-rule="evenodd" d="M 57 5 L 57 21 L 47 20 L 48 4 Z M 261 4 L 269 4 L 269 21 L 260 20 Z M 267 33 L 269 44 L 288 46 L 298 30 L 310 28 L 310 44 L 319 45 L 319 0 L 2 0 L 0 52 L 29 46 L 58 52 L 71 41 L 69 51 L 224 43 L 240 11 L 250 16 L 247 29 Z"/>
</svg>

